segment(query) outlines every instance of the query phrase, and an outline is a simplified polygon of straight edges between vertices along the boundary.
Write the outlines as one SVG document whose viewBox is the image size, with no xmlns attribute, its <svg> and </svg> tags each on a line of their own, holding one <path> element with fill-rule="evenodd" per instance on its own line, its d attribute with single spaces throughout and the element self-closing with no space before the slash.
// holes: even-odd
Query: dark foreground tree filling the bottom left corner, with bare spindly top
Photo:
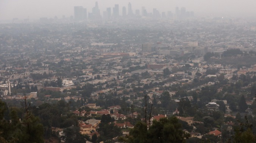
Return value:
<svg viewBox="0 0 256 143">
<path fill-rule="evenodd" d="M 27 96 L 24 97 L 21 105 L 25 110 L 24 118 L 20 121 L 15 108 L 12 108 L 9 114 L 10 120 L 7 121 L 4 113 L 9 109 L 0 100 L 0 142 L 43 143 L 43 126 L 39 118 L 32 114 L 32 107 L 27 102 Z"/>
</svg>

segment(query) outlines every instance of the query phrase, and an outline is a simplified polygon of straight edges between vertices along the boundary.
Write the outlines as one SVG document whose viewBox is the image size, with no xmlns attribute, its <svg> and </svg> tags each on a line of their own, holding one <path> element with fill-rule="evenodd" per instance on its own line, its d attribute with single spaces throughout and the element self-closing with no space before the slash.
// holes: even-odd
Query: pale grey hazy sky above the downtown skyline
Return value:
<svg viewBox="0 0 256 143">
<path fill-rule="evenodd" d="M 12 18 L 38 19 L 40 17 L 53 18 L 55 15 L 70 17 L 73 15 L 74 6 L 83 6 L 87 12 L 91 12 L 98 2 L 100 12 L 106 11 L 107 7 L 119 4 L 119 14 L 122 7 L 131 2 L 133 12 L 145 6 L 148 12 L 157 8 L 159 12 L 172 11 L 175 7 L 185 7 L 186 11 L 194 11 L 195 15 L 216 14 L 236 15 L 250 14 L 256 16 L 256 0 L 0 0 L 0 20 L 11 20 Z"/>
</svg>

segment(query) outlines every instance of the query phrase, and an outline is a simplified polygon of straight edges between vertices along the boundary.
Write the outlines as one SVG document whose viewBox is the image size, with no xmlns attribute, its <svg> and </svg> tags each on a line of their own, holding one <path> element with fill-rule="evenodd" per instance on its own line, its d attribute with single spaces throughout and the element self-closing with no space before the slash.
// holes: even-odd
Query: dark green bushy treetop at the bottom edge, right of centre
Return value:
<svg viewBox="0 0 256 143">
<path fill-rule="evenodd" d="M 182 130 L 181 123 L 175 116 L 153 120 L 147 130 L 147 124 L 138 122 L 124 142 L 129 143 L 183 143 L 190 135 Z"/>
</svg>

